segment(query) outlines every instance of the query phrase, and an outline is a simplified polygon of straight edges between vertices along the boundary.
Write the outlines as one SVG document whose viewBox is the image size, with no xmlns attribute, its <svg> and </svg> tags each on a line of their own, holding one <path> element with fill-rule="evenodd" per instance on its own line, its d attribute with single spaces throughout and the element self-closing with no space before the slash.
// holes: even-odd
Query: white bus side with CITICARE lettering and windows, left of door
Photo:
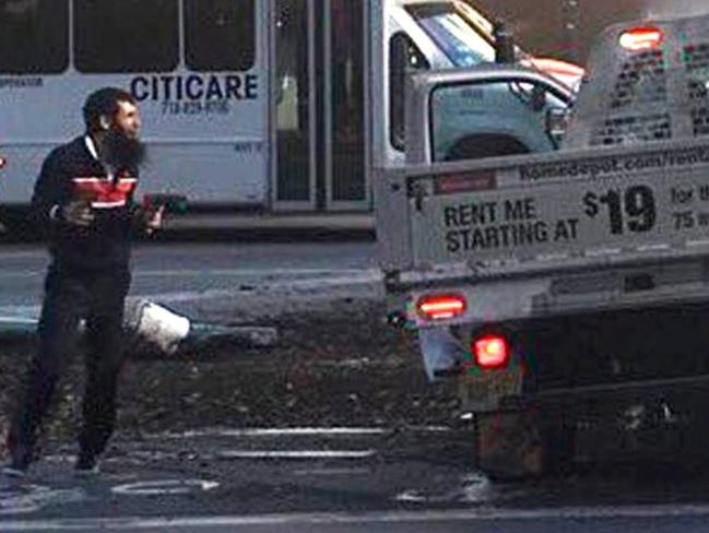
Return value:
<svg viewBox="0 0 709 533">
<path fill-rule="evenodd" d="M 141 104 L 143 191 L 263 203 L 267 3 L 0 1 L 0 202 L 28 201 L 49 150 L 82 133 L 86 95 L 111 85 Z"/>
</svg>

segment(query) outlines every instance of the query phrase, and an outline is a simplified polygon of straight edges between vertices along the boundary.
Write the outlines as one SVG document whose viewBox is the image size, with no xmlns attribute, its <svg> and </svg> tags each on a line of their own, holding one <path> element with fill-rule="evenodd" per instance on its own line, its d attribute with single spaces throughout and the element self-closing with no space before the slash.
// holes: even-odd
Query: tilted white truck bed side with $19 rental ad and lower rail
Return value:
<svg viewBox="0 0 709 533">
<path fill-rule="evenodd" d="M 409 167 L 388 185 L 388 288 L 460 292 L 456 321 L 709 300 L 707 141 Z"/>
</svg>

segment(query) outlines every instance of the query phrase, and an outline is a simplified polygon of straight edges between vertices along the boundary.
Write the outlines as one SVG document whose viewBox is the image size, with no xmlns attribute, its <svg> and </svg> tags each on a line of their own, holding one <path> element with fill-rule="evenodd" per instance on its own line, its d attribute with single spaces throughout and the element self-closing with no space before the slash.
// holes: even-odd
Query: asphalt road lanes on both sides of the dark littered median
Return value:
<svg viewBox="0 0 709 533">
<path fill-rule="evenodd" d="M 45 252 L 2 247 L 0 260 L 0 315 L 36 312 Z M 154 246 L 140 248 L 134 263 L 132 296 L 212 320 L 234 306 L 274 316 L 316 296 L 378 294 L 373 244 Z M 51 443 L 26 483 L 0 488 L 0 531 L 709 530 L 709 475 L 683 471 L 681 461 L 491 481 L 472 469 L 465 428 L 119 434 L 92 481 L 72 477 L 73 449 Z"/>
</svg>

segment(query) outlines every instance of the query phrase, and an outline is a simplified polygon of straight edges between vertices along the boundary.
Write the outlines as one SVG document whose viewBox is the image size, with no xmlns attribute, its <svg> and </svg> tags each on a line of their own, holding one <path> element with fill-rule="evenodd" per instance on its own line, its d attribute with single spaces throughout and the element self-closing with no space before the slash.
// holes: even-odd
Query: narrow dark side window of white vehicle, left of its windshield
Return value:
<svg viewBox="0 0 709 533">
<path fill-rule="evenodd" d="M 389 141 L 397 150 L 404 150 L 406 73 L 428 70 L 430 63 L 409 35 L 398 32 L 389 39 Z"/>
</svg>

